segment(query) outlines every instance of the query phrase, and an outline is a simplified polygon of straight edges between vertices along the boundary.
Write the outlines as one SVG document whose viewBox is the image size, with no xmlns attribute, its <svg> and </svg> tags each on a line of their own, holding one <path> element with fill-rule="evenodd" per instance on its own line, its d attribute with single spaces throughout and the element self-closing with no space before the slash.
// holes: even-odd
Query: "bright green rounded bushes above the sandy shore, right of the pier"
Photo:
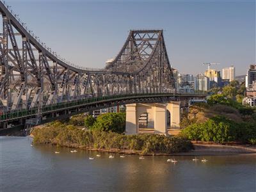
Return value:
<svg viewBox="0 0 256 192">
<path fill-rule="evenodd" d="M 195 141 L 214 141 L 223 143 L 241 141 L 255 144 L 255 122 L 234 122 L 225 116 L 214 116 L 202 124 L 191 124 L 182 130 L 182 134 Z"/>
</svg>

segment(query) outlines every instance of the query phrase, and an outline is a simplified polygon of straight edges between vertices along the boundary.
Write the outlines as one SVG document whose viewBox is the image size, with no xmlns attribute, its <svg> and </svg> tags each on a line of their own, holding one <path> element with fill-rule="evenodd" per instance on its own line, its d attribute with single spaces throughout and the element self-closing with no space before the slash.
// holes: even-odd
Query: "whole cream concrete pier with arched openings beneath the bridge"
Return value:
<svg viewBox="0 0 256 192">
<path fill-rule="evenodd" d="M 170 112 L 170 118 L 168 118 Z M 138 134 L 143 118 L 144 126 L 154 128 L 156 134 L 168 134 L 167 124 L 180 128 L 180 102 L 126 105 L 126 134 Z"/>
</svg>

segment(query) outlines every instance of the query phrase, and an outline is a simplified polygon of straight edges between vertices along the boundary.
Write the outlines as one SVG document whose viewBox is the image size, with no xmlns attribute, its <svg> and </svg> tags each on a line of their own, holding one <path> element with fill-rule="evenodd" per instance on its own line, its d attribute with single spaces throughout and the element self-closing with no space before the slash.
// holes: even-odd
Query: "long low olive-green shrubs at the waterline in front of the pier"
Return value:
<svg viewBox="0 0 256 192">
<path fill-rule="evenodd" d="M 187 152 L 192 143 L 181 136 L 158 134 L 124 135 L 116 132 L 77 129 L 74 125 L 60 122 L 49 124 L 44 129 L 35 129 L 33 143 L 52 143 L 67 147 L 83 147 L 105 150 L 127 150 L 142 154 L 172 154 Z"/>
</svg>

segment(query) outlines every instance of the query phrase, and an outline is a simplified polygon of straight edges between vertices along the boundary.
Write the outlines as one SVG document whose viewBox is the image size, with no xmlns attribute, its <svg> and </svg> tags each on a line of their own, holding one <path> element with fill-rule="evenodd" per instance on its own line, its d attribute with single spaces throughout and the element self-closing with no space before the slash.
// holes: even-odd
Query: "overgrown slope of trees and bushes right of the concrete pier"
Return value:
<svg viewBox="0 0 256 192">
<path fill-rule="evenodd" d="M 195 141 L 241 141 L 255 145 L 256 110 L 241 104 L 243 92 L 244 85 L 232 81 L 222 89 L 222 94 L 211 95 L 207 103 L 191 106 L 182 116 L 182 134 Z"/>
</svg>

